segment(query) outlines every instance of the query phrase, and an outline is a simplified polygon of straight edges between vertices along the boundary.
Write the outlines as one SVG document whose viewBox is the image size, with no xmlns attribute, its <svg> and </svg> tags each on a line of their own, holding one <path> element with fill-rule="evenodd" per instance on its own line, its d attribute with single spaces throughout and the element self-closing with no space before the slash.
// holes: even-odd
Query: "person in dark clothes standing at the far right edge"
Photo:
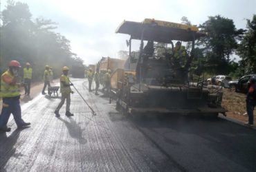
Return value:
<svg viewBox="0 0 256 172">
<path fill-rule="evenodd" d="M 245 125 L 253 126 L 254 115 L 253 111 L 256 105 L 256 78 L 250 79 L 250 87 L 246 96 L 246 111 L 248 114 L 248 122 Z"/>
</svg>

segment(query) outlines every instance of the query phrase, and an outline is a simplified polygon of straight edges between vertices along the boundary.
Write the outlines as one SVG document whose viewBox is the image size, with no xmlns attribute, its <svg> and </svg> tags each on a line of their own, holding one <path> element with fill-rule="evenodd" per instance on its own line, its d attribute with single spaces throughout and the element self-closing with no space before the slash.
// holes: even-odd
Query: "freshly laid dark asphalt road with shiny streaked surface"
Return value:
<svg viewBox="0 0 256 172">
<path fill-rule="evenodd" d="M 86 82 L 73 83 L 72 118 L 55 118 L 60 98 L 22 105 L 28 129 L 0 133 L 0 171 L 256 171 L 256 131 L 221 118 L 122 116 Z"/>
</svg>

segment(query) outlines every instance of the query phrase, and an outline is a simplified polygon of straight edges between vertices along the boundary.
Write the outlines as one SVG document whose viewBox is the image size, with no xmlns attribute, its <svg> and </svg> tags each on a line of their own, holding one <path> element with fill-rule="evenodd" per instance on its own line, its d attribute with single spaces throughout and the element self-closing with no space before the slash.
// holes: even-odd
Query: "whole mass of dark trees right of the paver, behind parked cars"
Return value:
<svg viewBox="0 0 256 172">
<path fill-rule="evenodd" d="M 186 17 L 183 23 L 190 24 Z M 199 25 L 202 37 L 196 44 L 194 69 L 198 74 L 229 74 L 235 78 L 256 71 L 256 15 L 247 20 L 247 30 L 235 28 L 232 19 L 208 17 Z M 236 54 L 240 59 L 231 58 Z"/>
</svg>

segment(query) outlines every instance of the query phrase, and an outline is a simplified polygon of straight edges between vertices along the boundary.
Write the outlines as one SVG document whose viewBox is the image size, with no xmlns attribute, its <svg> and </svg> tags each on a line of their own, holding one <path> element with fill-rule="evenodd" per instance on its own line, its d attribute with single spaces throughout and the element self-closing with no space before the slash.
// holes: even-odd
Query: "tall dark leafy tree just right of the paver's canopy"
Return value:
<svg viewBox="0 0 256 172">
<path fill-rule="evenodd" d="M 214 64 L 208 68 L 212 73 L 228 74 L 230 68 L 230 56 L 237 49 L 237 41 L 244 34 L 244 30 L 237 30 L 232 19 L 219 15 L 209 17 L 202 25 L 201 32 L 207 34 L 201 37 L 198 45 L 204 47 L 205 58 L 208 63 Z"/>
</svg>

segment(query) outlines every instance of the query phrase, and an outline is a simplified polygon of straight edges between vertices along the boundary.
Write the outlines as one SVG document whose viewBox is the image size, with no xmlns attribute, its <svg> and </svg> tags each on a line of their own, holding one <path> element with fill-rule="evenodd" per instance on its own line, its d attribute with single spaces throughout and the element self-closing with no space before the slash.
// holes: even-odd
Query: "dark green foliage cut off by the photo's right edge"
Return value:
<svg viewBox="0 0 256 172">
<path fill-rule="evenodd" d="M 247 31 L 244 34 L 237 54 L 241 57 L 240 65 L 244 67 L 242 74 L 256 73 L 256 15 L 253 19 L 247 20 Z"/>
</svg>

